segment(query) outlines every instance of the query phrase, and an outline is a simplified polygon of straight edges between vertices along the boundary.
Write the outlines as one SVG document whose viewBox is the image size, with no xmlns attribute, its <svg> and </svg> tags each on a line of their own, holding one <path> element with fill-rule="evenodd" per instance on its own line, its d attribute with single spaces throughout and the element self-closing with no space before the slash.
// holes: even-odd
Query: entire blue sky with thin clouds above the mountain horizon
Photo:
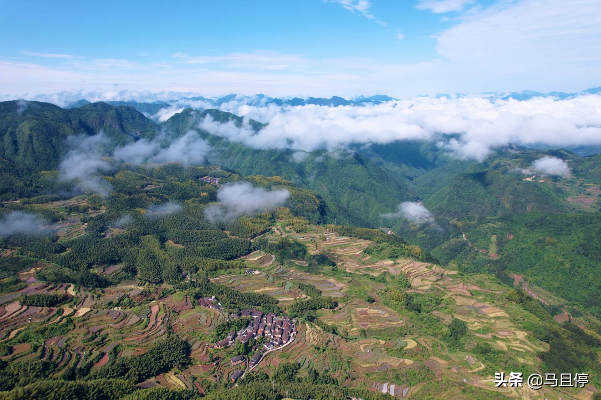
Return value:
<svg viewBox="0 0 601 400">
<path fill-rule="evenodd" d="M 402 97 L 601 85 L 598 0 L 0 5 L 3 97 L 126 89 Z"/>
</svg>

